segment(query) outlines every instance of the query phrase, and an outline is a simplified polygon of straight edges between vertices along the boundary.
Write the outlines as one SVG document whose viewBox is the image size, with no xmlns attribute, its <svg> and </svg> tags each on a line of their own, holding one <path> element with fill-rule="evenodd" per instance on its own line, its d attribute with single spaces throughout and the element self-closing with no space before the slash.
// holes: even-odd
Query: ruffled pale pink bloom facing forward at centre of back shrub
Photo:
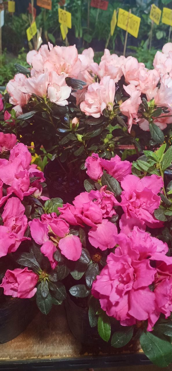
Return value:
<svg viewBox="0 0 172 371">
<path fill-rule="evenodd" d="M 88 86 L 85 101 L 81 102 L 80 109 L 86 115 L 97 118 L 103 114 L 105 108 L 113 111 L 114 98 L 115 82 L 110 79 L 110 76 L 105 76 L 100 83 L 94 82 Z"/>
</svg>

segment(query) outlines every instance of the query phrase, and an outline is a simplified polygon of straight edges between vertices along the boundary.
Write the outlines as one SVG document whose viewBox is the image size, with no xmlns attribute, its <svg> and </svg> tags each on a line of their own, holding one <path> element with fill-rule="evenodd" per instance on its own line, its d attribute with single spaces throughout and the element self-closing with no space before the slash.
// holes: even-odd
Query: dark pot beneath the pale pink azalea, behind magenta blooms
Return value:
<svg viewBox="0 0 172 371">
<path fill-rule="evenodd" d="M 84 179 L 80 180 L 79 176 L 74 174 L 71 183 L 67 181 L 65 183 L 65 176 L 66 174 L 62 173 L 57 159 L 50 161 L 44 168 L 49 197 L 60 197 L 64 204 L 67 202 L 72 203 L 80 192 L 85 191 L 83 186 Z"/>
</svg>

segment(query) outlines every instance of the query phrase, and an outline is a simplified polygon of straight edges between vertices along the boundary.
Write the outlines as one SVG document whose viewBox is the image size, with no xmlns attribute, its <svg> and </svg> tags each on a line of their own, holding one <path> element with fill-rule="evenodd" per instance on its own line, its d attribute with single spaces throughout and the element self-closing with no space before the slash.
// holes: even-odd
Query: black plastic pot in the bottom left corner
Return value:
<svg viewBox="0 0 172 371">
<path fill-rule="evenodd" d="M 0 344 L 21 334 L 36 313 L 35 301 L 2 295 L 0 298 Z"/>
</svg>

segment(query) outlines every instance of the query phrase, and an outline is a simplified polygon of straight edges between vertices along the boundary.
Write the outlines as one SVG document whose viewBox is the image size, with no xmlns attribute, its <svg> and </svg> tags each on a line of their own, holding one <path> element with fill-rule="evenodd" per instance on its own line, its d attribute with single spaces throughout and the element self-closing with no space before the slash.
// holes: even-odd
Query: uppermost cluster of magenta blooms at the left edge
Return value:
<svg viewBox="0 0 172 371">
<path fill-rule="evenodd" d="M 10 149 L 16 142 L 16 137 L 9 137 L 13 134 L 3 134 L 2 148 Z M 6 138 L 6 139 L 4 139 Z M 11 142 L 12 141 L 12 142 Z M 7 147 L 6 147 L 7 146 Z M 17 143 L 11 150 L 9 160 L 0 159 L 0 206 L 14 193 L 20 200 L 24 196 L 36 193 L 40 196 L 42 193 L 41 182 L 45 180 L 42 171 L 37 169 L 37 165 L 30 165 L 31 154 L 23 143 Z M 30 178 L 38 177 L 30 183 Z M 3 196 L 3 185 L 6 188 L 6 196 Z"/>
</svg>

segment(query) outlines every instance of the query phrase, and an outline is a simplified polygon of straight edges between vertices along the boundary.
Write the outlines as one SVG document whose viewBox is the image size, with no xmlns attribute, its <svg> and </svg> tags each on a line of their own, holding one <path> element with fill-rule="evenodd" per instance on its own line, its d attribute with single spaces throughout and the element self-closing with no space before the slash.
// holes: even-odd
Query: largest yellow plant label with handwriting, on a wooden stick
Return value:
<svg viewBox="0 0 172 371">
<path fill-rule="evenodd" d="M 119 9 L 117 26 L 127 31 L 134 37 L 138 37 L 140 17 L 135 16 L 126 10 Z"/>
</svg>

